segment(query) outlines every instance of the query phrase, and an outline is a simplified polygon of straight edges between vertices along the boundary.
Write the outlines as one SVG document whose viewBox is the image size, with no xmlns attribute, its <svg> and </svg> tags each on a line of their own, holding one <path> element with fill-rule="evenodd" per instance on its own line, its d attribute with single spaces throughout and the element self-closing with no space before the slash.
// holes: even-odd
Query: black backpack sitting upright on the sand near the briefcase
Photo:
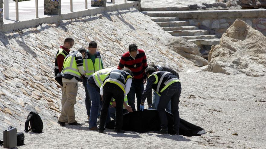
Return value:
<svg viewBox="0 0 266 149">
<path fill-rule="evenodd" d="M 29 123 L 31 126 L 29 126 Z M 32 132 L 41 133 L 43 128 L 44 124 L 41 117 L 36 112 L 31 111 L 25 122 L 25 132 L 29 132 L 31 130 Z"/>
</svg>

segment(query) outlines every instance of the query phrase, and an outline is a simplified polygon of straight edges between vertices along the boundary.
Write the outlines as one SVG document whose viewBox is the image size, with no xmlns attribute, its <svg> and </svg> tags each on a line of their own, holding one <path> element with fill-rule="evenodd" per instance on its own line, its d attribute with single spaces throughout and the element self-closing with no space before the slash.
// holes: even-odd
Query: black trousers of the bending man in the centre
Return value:
<svg viewBox="0 0 266 149">
<path fill-rule="evenodd" d="M 103 88 L 102 95 L 102 110 L 100 115 L 100 129 L 104 130 L 104 125 L 109 109 L 109 105 L 112 97 L 116 102 L 116 113 L 115 113 L 115 130 L 121 130 L 123 125 L 123 103 L 124 103 L 124 91 L 116 84 L 107 82 Z"/>
</svg>

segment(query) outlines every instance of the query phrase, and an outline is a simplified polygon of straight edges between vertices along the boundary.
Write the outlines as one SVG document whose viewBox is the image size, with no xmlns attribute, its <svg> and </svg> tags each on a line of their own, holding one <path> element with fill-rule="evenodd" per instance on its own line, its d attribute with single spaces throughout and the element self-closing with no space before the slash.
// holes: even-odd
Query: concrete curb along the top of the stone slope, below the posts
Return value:
<svg viewBox="0 0 266 149">
<path fill-rule="evenodd" d="M 112 6 L 107 6 L 107 7 L 100 7 L 100 8 L 93 8 L 93 9 L 88 9 L 84 11 L 77 11 L 77 12 L 71 12 L 68 14 L 61 14 L 61 15 L 51 15 L 43 18 L 36 18 L 32 20 L 26 20 L 26 21 L 20 21 L 20 22 L 15 22 L 15 23 L 9 23 L 9 24 L 4 24 L 2 28 L 0 28 L 0 31 L 2 32 L 7 32 L 9 30 L 16 30 L 20 28 L 27 28 L 27 27 L 32 27 L 36 26 L 41 23 L 54 23 L 54 22 L 59 22 L 61 20 L 68 20 L 72 18 L 77 18 L 77 17 L 85 17 L 85 16 L 90 16 L 90 15 L 96 15 L 103 13 L 105 11 L 115 11 L 115 10 L 122 10 L 130 7 L 135 7 L 138 9 L 138 2 L 130 2 L 130 3 L 123 3 L 119 5 L 112 5 Z"/>
</svg>

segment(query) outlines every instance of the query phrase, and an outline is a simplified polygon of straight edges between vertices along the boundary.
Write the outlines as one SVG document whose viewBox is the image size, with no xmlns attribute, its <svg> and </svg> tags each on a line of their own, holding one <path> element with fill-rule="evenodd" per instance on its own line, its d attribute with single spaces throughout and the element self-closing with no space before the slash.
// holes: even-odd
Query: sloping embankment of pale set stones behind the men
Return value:
<svg viewBox="0 0 266 149">
<path fill-rule="evenodd" d="M 104 67 L 117 67 L 131 43 L 145 50 L 149 64 L 158 62 L 176 70 L 196 67 L 166 48 L 165 39 L 171 35 L 135 8 L 0 33 L 0 138 L 9 125 L 24 130 L 30 110 L 36 110 L 45 123 L 57 121 L 61 90 L 54 81 L 54 58 L 69 36 L 75 39 L 72 51 L 96 41 Z M 85 107 L 82 84 L 79 87 L 77 111 Z"/>
</svg>

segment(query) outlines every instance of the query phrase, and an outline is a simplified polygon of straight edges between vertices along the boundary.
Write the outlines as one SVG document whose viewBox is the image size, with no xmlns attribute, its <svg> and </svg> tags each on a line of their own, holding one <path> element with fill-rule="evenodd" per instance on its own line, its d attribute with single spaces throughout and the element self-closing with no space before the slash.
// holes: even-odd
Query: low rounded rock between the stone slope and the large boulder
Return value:
<svg viewBox="0 0 266 149">
<path fill-rule="evenodd" d="M 177 37 L 170 38 L 167 46 L 183 57 L 186 57 L 188 60 L 194 62 L 198 67 L 208 65 L 208 61 L 200 54 L 198 46 L 187 39 Z"/>
</svg>

